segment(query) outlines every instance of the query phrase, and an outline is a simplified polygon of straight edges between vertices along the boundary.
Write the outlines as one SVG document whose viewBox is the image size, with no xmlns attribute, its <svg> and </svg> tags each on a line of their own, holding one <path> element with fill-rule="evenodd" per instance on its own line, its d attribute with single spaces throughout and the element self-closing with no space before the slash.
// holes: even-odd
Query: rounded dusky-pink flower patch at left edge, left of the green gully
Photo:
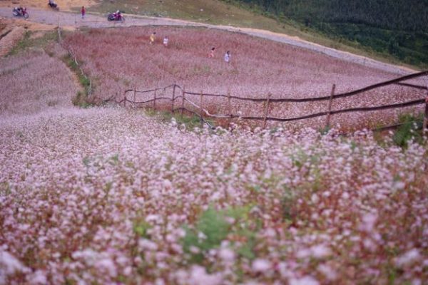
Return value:
<svg viewBox="0 0 428 285">
<path fill-rule="evenodd" d="M 77 88 L 66 66 L 44 51 L 0 58 L 0 115 L 69 107 Z"/>
</svg>

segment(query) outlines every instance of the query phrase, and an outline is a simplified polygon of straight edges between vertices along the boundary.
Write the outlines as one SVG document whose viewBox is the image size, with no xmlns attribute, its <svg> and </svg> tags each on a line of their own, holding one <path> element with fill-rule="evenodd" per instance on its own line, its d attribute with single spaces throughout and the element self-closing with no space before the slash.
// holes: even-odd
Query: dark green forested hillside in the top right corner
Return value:
<svg viewBox="0 0 428 285">
<path fill-rule="evenodd" d="M 340 1 L 340 0 L 236 0 L 275 16 L 345 42 L 392 55 L 399 61 L 421 68 L 428 67 L 427 1 Z"/>
</svg>

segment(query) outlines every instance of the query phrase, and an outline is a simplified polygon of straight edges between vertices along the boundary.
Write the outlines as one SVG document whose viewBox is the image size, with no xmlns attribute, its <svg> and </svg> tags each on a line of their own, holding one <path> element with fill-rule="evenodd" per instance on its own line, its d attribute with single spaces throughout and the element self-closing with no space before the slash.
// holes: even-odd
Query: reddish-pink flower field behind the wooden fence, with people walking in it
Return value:
<svg viewBox="0 0 428 285">
<path fill-rule="evenodd" d="M 156 31 L 157 40 L 149 44 L 149 36 Z M 163 36 L 170 38 L 169 45 L 162 45 Z M 93 78 L 95 95 L 110 98 L 118 94 L 123 98 L 126 89 L 147 90 L 163 88 L 176 83 L 195 93 L 221 93 L 266 98 L 311 98 L 330 95 L 332 85 L 336 93 L 363 88 L 374 83 L 399 77 L 355 63 L 323 56 L 303 48 L 266 41 L 239 33 L 229 33 L 206 28 L 133 27 L 90 29 L 73 33 L 63 44 L 71 48 L 83 63 L 83 70 Z M 215 57 L 208 54 L 215 47 Z M 225 51 L 230 51 L 230 63 L 223 61 Z M 413 81 L 426 86 L 423 80 Z M 158 95 L 172 97 L 172 90 Z M 351 98 L 335 100 L 333 110 L 370 107 L 406 100 L 424 98 L 425 91 L 402 86 L 387 86 Z M 137 101 L 153 98 L 153 93 L 138 95 Z M 132 98 L 131 98 L 132 100 Z M 198 95 L 193 102 L 199 103 Z M 205 108 L 212 113 L 225 114 L 227 99 L 205 97 Z M 246 116 L 263 115 L 263 104 L 233 100 L 233 113 Z M 270 115 L 294 118 L 327 110 L 327 100 L 316 103 L 275 103 Z M 168 108 L 170 103 L 167 103 Z M 165 107 L 165 106 L 164 106 Z M 191 108 L 186 104 L 187 108 Z M 388 125 L 407 110 L 384 110 L 371 113 L 336 115 L 332 123 L 337 128 L 373 128 Z M 288 123 L 287 128 L 304 126 L 324 127 L 325 118 Z"/>
</svg>

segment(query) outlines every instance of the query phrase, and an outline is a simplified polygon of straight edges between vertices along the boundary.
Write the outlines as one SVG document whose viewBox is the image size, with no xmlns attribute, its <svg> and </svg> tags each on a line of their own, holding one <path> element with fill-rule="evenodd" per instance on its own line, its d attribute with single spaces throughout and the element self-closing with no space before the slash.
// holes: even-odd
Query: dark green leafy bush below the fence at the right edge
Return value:
<svg viewBox="0 0 428 285">
<path fill-rule="evenodd" d="M 422 113 L 417 117 L 413 115 L 403 115 L 399 120 L 402 125 L 394 133 L 394 143 L 401 147 L 407 147 L 407 142 L 411 139 L 422 142 L 423 120 L 424 117 Z"/>
</svg>

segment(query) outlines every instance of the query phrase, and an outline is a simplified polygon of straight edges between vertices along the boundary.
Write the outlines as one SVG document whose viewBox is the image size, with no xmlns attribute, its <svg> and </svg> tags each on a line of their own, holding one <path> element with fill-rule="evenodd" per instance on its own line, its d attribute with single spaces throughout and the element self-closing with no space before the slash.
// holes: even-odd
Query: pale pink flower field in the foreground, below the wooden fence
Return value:
<svg viewBox="0 0 428 285">
<path fill-rule="evenodd" d="M 0 128 L 1 284 L 428 279 L 420 145 L 194 133 L 114 108 Z"/>
</svg>

